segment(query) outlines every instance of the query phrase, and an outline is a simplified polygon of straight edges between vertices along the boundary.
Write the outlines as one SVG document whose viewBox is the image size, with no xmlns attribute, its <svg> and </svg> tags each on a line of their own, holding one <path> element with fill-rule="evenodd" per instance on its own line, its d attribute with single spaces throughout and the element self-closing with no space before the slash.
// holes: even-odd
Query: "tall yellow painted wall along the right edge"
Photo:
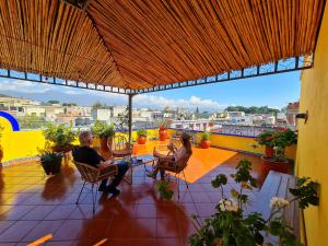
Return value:
<svg viewBox="0 0 328 246">
<path fill-rule="evenodd" d="M 328 246 L 328 8 L 315 51 L 315 63 L 301 75 L 300 110 L 308 110 L 308 121 L 298 119 L 296 173 L 320 183 L 320 204 L 305 210 L 308 246 Z"/>
</svg>

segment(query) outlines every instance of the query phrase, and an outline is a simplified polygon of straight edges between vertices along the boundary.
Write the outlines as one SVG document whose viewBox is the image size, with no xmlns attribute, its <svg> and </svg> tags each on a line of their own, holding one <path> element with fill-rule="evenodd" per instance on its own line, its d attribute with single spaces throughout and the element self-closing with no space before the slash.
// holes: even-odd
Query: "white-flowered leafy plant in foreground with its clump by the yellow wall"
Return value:
<svg viewBox="0 0 328 246">
<path fill-rule="evenodd" d="M 294 199 L 288 201 L 283 198 L 272 198 L 270 206 L 272 212 L 266 220 L 258 212 L 250 214 L 244 213 L 244 207 L 248 201 L 245 190 L 253 190 L 256 187 L 256 179 L 250 175 L 251 163 L 242 160 L 236 174 L 232 175 L 234 180 L 239 184 L 239 189 L 231 190 L 231 198 L 225 197 L 223 187 L 227 185 L 227 177 L 219 174 L 213 180 L 212 186 L 219 189 L 222 199 L 216 206 L 216 212 L 206 219 L 203 223 L 199 218 L 194 216 L 197 233 L 189 237 L 191 246 L 256 246 L 267 245 L 263 233 L 278 236 L 281 245 L 297 246 L 297 242 L 290 225 L 283 219 L 283 210 L 291 202 L 298 200 L 298 208 L 304 209 L 309 204 L 318 204 L 318 184 L 309 178 L 298 179 L 296 187 L 291 189 Z M 269 206 L 269 204 L 268 204 Z"/>
</svg>

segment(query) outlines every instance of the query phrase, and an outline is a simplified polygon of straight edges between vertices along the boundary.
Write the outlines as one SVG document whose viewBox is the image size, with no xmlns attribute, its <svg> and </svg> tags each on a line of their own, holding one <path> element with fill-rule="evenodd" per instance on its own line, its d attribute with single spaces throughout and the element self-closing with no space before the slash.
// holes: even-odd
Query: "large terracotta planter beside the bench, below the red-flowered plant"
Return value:
<svg viewBox="0 0 328 246">
<path fill-rule="evenodd" d="M 270 171 L 290 174 L 291 165 L 288 160 L 278 162 L 271 157 L 261 156 L 261 176 L 263 180 L 267 178 Z"/>
</svg>

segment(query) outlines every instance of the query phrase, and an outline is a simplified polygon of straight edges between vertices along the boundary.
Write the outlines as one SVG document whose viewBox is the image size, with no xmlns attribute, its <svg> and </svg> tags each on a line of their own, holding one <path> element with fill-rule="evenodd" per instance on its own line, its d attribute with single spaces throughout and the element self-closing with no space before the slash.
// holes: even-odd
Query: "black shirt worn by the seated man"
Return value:
<svg viewBox="0 0 328 246">
<path fill-rule="evenodd" d="M 91 166 L 97 167 L 105 160 L 90 147 L 78 147 L 72 151 L 75 162 L 82 162 Z"/>
</svg>

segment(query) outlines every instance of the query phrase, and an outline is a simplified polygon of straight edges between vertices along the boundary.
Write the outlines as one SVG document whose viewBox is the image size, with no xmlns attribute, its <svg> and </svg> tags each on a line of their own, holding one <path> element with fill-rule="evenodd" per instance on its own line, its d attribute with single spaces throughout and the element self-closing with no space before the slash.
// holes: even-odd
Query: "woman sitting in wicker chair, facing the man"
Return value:
<svg viewBox="0 0 328 246">
<path fill-rule="evenodd" d="M 183 165 L 184 162 L 181 162 L 185 159 L 189 159 L 189 156 L 192 154 L 191 150 L 191 143 L 190 143 L 190 136 L 186 132 L 184 132 L 180 136 L 181 141 L 181 148 L 177 149 L 173 143 L 168 144 L 167 149 L 169 150 L 167 155 L 161 154 L 156 152 L 156 149 L 154 149 L 154 156 L 159 159 L 157 164 L 154 166 L 154 169 L 152 173 L 148 174 L 148 176 L 152 178 L 156 178 L 159 171 L 161 172 L 161 179 L 164 179 L 165 169 L 183 169 L 185 166 Z"/>
</svg>

